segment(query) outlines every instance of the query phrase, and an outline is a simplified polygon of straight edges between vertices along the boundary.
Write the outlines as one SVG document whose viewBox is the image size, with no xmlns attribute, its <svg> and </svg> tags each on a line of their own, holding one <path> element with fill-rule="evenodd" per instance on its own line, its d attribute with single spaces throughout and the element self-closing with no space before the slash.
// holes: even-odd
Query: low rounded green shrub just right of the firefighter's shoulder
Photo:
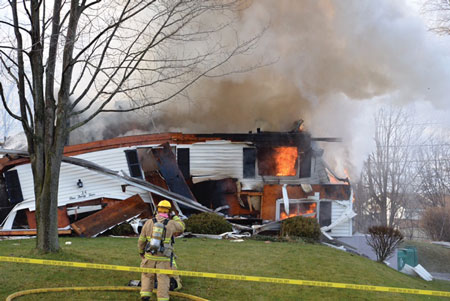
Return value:
<svg viewBox="0 0 450 301">
<path fill-rule="evenodd" d="M 209 212 L 193 214 L 185 223 L 187 232 L 198 234 L 222 234 L 233 230 L 223 217 Z"/>
</svg>

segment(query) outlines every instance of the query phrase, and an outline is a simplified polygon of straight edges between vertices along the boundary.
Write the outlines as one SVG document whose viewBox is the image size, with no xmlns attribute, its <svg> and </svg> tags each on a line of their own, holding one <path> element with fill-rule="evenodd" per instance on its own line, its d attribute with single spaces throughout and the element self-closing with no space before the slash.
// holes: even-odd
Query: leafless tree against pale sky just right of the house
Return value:
<svg viewBox="0 0 450 301">
<path fill-rule="evenodd" d="M 367 199 L 359 201 L 370 211 L 372 224 L 394 226 L 414 179 L 411 145 L 419 136 L 412 130 L 411 116 L 401 109 L 382 108 L 375 122 L 375 150 L 364 162 L 361 175 Z"/>
</svg>

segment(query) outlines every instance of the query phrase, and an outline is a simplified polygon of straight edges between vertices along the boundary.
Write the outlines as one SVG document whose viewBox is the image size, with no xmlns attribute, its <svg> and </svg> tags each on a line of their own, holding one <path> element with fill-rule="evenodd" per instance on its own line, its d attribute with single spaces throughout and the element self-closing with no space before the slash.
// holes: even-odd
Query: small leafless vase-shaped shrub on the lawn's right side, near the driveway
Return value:
<svg viewBox="0 0 450 301">
<path fill-rule="evenodd" d="M 372 226 L 368 229 L 367 243 L 377 255 L 377 261 L 383 262 L 403 241 L 403 234 L 388 226 Z"/>
</svg>

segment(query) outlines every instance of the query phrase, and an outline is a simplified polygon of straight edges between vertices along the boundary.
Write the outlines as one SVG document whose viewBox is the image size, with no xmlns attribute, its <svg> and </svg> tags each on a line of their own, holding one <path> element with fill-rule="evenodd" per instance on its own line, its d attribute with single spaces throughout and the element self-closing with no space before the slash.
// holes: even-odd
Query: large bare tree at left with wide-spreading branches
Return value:
<svg viewBox="0 0 450 301">
<path fill-rule="evenodd" d="M 241 40 L 233 30 L 243 2 L 1 1 L 1 82 L 15 83 L 20 113 L 1 84 L 0 95 L 27 137 L 37 249 L 59 249 L 59 170 L 69 132 L 100 113 L 155 106 L 204 76 L 232 72 L 227 63 L 258 39 Z"/>
</svg>

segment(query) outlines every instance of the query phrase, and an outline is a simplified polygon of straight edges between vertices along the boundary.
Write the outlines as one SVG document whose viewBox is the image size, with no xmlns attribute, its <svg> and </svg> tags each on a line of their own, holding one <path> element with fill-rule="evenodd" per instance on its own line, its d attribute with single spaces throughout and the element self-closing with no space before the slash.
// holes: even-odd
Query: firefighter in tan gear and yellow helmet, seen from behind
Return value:
<svg viewBox="0 0 450 301">
<path fill-rule="evenodd" d="M 142 258 L 141 267 L 172 269 L 174 266 L 173 235 L 184 231 L 184 223 L 175 215 L 171 219 L 171 204 L 167 200 L 158 203 L 157 214 L 149 219 L 139 235 L 138 248 Z M 169 300 L 169 275 L 156 274 L 158 282 L 157 300 Z M 150 300 L 155 274 L 142 273 L 141 300 Z"/>
</svg>

